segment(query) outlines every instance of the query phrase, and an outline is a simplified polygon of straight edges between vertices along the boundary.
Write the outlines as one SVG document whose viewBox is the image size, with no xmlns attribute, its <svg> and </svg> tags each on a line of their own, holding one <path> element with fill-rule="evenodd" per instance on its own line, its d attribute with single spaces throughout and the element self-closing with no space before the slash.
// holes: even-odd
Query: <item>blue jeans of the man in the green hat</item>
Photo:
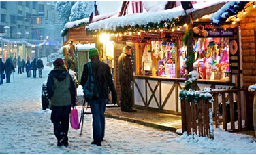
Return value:
<svg viewBox="0 0 256 155">
<path fill-rule="evenodd" d="M 105 110 L 108 99 L 90 99 L 89 104 L 93 114 L 93 141 L 101 142 L 105 133 Z"/>
</svg>

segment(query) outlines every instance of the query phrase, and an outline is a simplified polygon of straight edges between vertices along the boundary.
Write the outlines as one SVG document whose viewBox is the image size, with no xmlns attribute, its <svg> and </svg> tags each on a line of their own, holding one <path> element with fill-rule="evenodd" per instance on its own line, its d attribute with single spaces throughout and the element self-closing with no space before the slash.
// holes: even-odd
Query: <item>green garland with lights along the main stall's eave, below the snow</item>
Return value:
<svg viewBox="0 0 256 155">
<path fill-rule="evenodd" d="M 163 20 L 161 22 L 150 22 L 146 25 L 127 25 L 127 26 L 118 26 L 115 30 L 87 30 L 87 33 L 89 35 L 95 35 L 97 32 L 108 32 L 108 33 L 124 33 L 124 32 L 140 32 L 140 31 L 149 31 L 149 30 L 159 30 L 159 29 L 165 29 L 165 30 L 171 30 L 172 28 L 176 28 L 178 26 L 181 26 L 180 20 L 178 18 L 174 18 L 172 20 Z"/>
</svg>

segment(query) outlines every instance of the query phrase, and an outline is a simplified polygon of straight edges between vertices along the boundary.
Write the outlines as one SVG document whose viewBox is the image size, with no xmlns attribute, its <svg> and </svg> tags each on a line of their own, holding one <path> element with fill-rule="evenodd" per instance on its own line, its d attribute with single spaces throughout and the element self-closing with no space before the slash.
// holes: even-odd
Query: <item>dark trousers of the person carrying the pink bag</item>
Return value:
<svg viewBox="0 0 256 155">
<path fill-rule="evenodd" d="M 65 133 L 66 137 L 63 143 L 68 141 L 67 133 L 69 131 L 69 114 L 71 111 L 70 106 L 52 106 L 52 114 L 50 120 L 52 120 L 54 135 L 59 141 L 61 139 L 61 133 Z"/>
</svg>

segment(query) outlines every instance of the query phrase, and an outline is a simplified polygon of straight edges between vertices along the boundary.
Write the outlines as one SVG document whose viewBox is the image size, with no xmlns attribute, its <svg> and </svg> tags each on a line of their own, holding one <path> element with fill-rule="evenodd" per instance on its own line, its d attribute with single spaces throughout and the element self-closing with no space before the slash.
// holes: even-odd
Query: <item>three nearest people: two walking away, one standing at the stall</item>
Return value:
<svg viewBox="0 0 256 155">
<path fill-rule="evenodd" d="M 131 81 L 133 81 L 133 69 L 131 66 L 131 47 L 125 46 L 118 59 L 119 76 L 121 79 L 121 110 L 135 112 L 131 108 Z M 117 96 L 110 67 L 99 60 L 99 51 L 96 48 L 89 49 L 91 62 L 84 64 L 84 70 L 80 85 L 85 87 L 94 79 L 94 89 L 91 98 L 86 98 L 93 115 L 93 142 L 101 146 L 105 136 L 105 109 L 108 102 L 108 87 L 112 95 L 112 103 L 116 104 Z M 89 82 L 88 82 L 89 81 Z M 51 121 L 54 126 L 54 135 L 57 138 L 57 146 L 68 146 L 69 114 L 71 107 L 76 106 L 76 87 L 63 59 L 54 61 L 54 69 L 50 72 L 47 81 L 48 99 L 51 101 Z"/>
</svg>

